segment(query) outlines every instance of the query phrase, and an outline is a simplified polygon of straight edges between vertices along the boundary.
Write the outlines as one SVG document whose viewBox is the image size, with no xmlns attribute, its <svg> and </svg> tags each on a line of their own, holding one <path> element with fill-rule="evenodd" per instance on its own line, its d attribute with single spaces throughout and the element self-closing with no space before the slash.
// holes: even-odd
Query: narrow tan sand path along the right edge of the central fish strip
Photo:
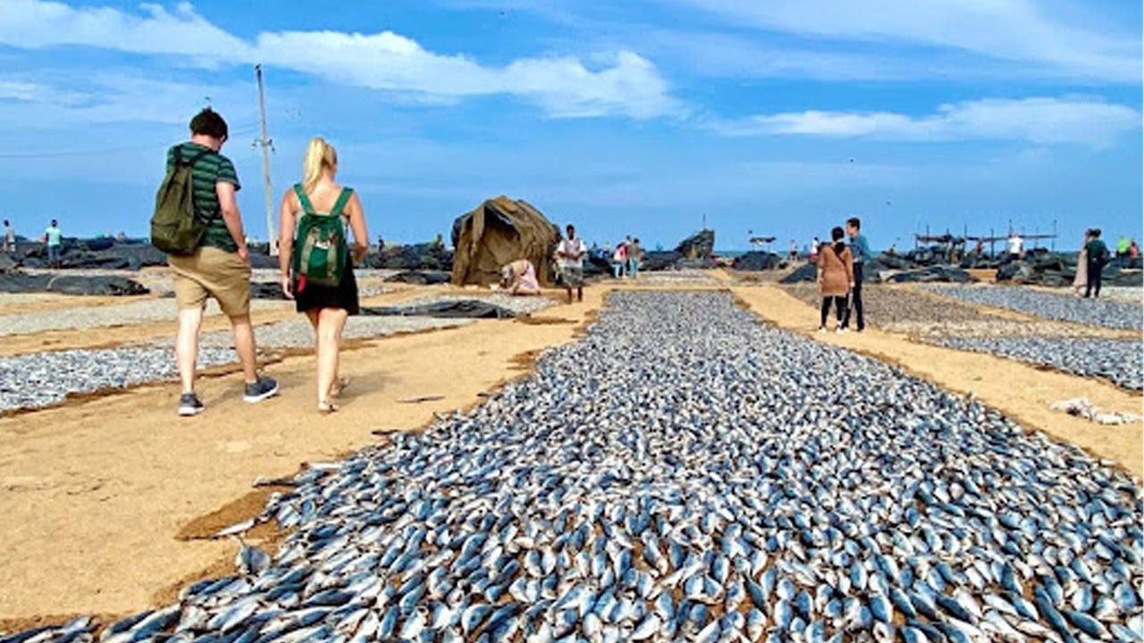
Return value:
<svg viewBox="0 0 1144 643">
<path fill-rule="evenodd" d="M 1142 412 L 1142 397 L 1095 378 L 1036 368 L 1012 359 L 909 341 L 905 335 L 867 328 L 865 333 L 819 334 L 818 311 L 777 286 L 733 288 L 752 311 L 778 327 L 876 357 L 907 373 L 963 395 L 974 394 L 1019 423 L 1114 460 L 1144 477 L 1144 426 L 1104 427 L 1049 410 L 1060 399 L 1087 397 L 1110 411 Z"/>
</svg>

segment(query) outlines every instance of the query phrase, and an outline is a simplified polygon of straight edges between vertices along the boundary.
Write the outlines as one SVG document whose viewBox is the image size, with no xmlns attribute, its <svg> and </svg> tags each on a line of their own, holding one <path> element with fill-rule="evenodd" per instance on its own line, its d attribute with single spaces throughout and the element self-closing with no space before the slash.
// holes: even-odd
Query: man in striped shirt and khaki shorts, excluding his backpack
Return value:
<svg viewBox="0 0 1144 643">
<path fill-rule="evenodd" d="M 222 156 L 227 121 L 207 108 L 191 119 L 191 140 L 167 151 L 167 168 L 176 160 L 191 161 L 194 216 L 206 224 L 198 249 L 186 256 L 168 255 L 178 305 L 175 356 L 183 394 L 180 415 L 198 415 L 202 402 L 194 392 L 196 362 L 202 309 L 214 297 L 230 318 L 235 351 L 243 363 L 243 399 L 261 402 L 278 392 L 278 382 L 257 374 L 254 330 L 251 326 L 251 260 L 235 192 L 240 188 L 235 165 Z"/>
</svg>

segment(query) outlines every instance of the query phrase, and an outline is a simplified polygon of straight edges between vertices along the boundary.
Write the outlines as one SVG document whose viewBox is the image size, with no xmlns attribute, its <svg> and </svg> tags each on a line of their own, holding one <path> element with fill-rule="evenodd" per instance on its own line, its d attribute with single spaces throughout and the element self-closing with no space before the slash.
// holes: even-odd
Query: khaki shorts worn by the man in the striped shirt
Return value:
<svg viewBox="0 0 1144 643">
<path fill-rule="evenodd" d="M 207 296 L 219 301 L 228 317 L 251 312 L 251 267 L 238 253 L 201 247 L 188 256 L 167 256 L 175 273 L 175 302 L 178 309 L 202 308 Z"/>
</svg>

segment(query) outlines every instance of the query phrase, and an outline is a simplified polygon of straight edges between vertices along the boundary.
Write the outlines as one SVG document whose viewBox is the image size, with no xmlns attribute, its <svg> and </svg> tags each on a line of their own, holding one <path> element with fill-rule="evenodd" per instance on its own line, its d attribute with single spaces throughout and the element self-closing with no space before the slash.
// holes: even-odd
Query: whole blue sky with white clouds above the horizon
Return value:
<svg viewBox="0 0 1144 643">
<path fill-rule="evenodd" d="M 674 246 L 704 215 L 876 247 L 929 224 L 1141 237 L 1142 8 L 1075 0 L 0 0 L 0 213 L 143 235 L 166 148 L 207 101 L 265 238 L 335 144 L 371 232 L 416 241 L 496 195 L 589 240 Z M 209 97 L 209 98 L 208 98 Z"/>
</svg>

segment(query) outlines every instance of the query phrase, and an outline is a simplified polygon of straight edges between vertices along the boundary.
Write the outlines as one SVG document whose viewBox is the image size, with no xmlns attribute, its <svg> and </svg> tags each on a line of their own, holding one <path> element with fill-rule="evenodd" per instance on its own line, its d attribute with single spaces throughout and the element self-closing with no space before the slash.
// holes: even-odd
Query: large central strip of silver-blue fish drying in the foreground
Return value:
<svg viewBox="0 0 1144 643">
<path fill-rule="evenodd" d="M 613 294 L 533 376 L 296 484 L 272 557 L 100 640 L 1141 640 L 1128 475 L 725 293 Z"/>
</svg>

